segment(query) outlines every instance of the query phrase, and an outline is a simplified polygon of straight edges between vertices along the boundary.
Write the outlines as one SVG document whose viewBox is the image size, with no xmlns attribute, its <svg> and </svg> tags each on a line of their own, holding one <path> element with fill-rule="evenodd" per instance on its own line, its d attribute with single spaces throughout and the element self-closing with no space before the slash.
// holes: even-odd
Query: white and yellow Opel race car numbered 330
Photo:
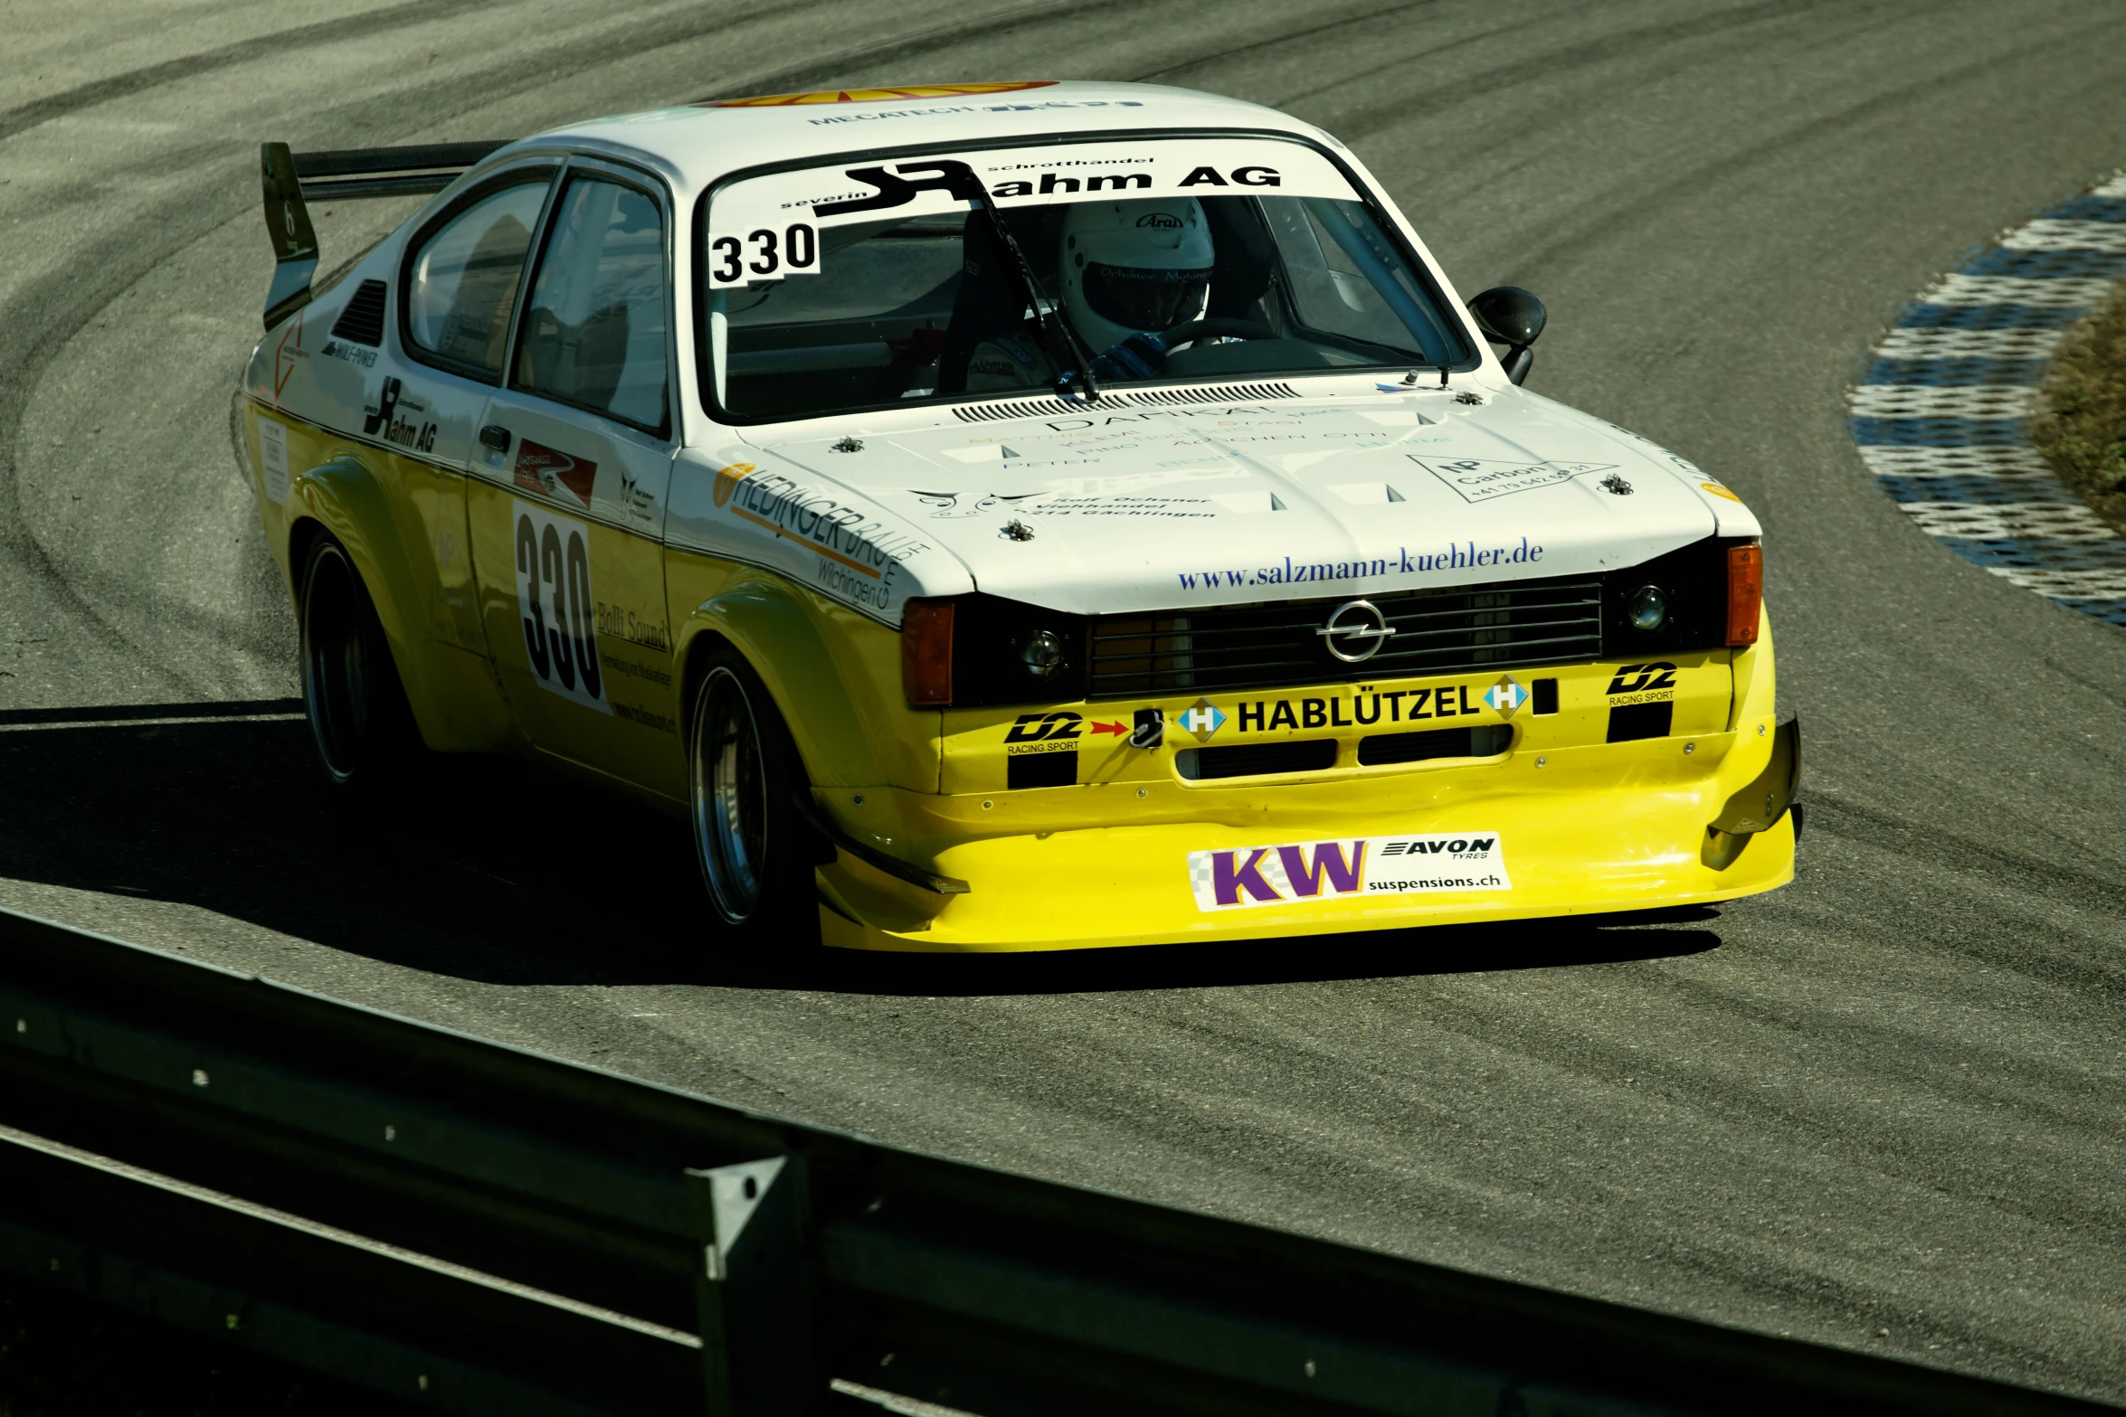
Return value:
<svg viewBox="0 0 2126 1417">
<path fill-rule="evenodd" d="M 1756 518 L 1522 389 L 1535 297 L 1465 308 L 1307 123 L 859 89 L 264 187 L 244 438 L 347 792 L 566 761 L 682 809 L 761 947 L 1792 880 Z M 313 291 L 304 198 L 406 191 Z"/>
</svg>

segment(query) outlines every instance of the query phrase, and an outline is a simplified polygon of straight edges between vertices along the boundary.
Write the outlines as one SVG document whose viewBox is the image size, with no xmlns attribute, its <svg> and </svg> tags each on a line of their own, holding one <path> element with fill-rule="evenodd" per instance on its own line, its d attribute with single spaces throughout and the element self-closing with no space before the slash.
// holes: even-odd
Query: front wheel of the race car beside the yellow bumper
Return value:
<svg viewBox="0 0 2126 1417">
<path fill-rule="evenodd" d="M 797 746 L 753 665 L 714 650 L 687 716 L 687 786 L 702 886 L 738 945 L 819 943 L 819 835 L 797 814 L 810 792 Z"/>
</svg>

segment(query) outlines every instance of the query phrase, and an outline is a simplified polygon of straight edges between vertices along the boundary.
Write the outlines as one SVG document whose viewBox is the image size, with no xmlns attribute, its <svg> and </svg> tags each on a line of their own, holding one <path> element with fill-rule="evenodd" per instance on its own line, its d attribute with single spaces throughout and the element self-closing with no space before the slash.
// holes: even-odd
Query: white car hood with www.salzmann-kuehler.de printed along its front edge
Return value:
<svg viewBox="0 0 2126 1417">
<path fill-rule="evenodd" d="M 1520 389 L 1123 397 L 1140 404 L 759 446 L 976 588 L 1074 614 L 1586 576 L 1756 533 L 1688 461 Z"/>
</svg>

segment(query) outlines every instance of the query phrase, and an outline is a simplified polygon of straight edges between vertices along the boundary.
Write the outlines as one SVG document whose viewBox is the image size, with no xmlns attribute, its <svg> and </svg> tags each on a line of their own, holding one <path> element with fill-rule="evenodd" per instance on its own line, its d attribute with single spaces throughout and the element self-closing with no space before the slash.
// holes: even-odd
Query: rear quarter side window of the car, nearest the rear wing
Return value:
<svg viewBox="0 0 2126 1417">
<path fill-rule="evenodd" d="M 406 325 L 419 348 L 502 374 L 510 306 L 546 181 L 493 191 L 432 232 L 406 278 Z"/>
</svg>

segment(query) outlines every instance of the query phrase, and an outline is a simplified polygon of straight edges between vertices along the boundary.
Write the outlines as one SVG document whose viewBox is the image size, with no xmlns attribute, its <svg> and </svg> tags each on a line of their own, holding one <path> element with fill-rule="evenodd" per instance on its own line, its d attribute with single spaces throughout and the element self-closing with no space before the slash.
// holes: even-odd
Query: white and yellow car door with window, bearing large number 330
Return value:
<svg viewBox="0 0 2126 1417">
<path fill-rule="evenodd" d="M 519 724 L 546 752 L 678 797 L 670 229 L 659 183 L 570 159 L 470 463 L 470 518 Z"/>
</svg>

